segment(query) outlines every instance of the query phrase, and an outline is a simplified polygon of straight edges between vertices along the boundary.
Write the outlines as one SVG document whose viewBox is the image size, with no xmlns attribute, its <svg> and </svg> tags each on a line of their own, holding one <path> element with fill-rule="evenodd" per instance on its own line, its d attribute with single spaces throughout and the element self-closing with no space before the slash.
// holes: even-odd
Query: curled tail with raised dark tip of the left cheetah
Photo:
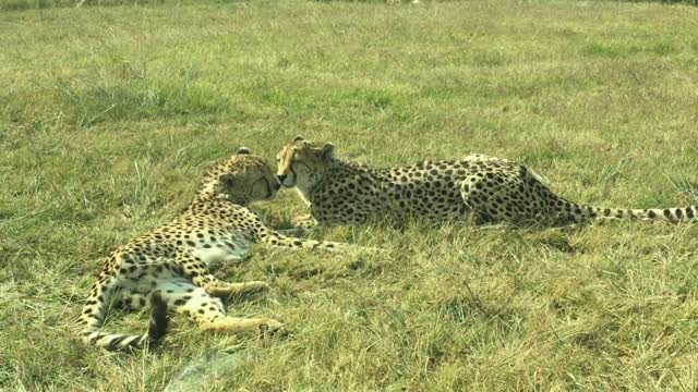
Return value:
<svg viewBox="0 0 698 392">
<path fill-rule="evenodd" d="M 169 327 L 167 313 L 167 303 L 159 292 L 154 292 L 151 294 L 151 323 L 144 334 L 109 333 L 99 328 L 89 328 L 82 332 L 82 336 L 86 343 L 107 350 L 142 348 L 146 344 L 152 346 L 167 333 Z"/>
</svg>

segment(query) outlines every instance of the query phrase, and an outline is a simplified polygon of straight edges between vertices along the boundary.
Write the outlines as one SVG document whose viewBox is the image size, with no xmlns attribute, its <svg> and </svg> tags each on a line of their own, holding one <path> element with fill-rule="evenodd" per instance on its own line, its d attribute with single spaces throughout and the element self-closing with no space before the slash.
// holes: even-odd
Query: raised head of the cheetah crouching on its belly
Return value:
<svg viewBox="0 0 698 392">
<path fill-rule="evenodd" d="M 321 179 L 324 169 L 332 163 L 334 150 L 335 146 L 332 143 L 318 146 L 302 136 L 296 136 L 276 156 L 276 175 L 286 187 L 310 189 Z"/>
</svg>

